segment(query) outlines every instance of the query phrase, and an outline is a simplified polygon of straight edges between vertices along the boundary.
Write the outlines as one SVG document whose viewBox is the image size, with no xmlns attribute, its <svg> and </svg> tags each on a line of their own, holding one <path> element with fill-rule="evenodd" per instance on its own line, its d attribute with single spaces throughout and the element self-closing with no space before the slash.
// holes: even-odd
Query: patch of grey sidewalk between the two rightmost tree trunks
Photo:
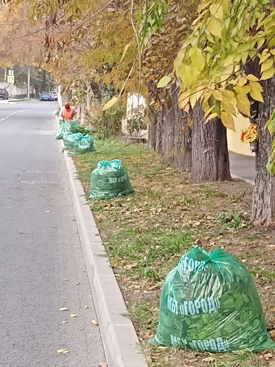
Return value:
<svg viewBox="0 0 275 367">
<path fill-rule="evenodd" d="M 229 152 L 229 160 L 232 178 L 243 179 L 254 185 L 255 157 Z"/>
</svg>

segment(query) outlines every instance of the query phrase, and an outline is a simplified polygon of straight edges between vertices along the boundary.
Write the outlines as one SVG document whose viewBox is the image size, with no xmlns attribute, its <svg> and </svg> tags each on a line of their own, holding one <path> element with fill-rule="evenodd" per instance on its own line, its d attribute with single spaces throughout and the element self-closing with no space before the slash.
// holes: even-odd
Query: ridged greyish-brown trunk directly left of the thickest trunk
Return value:
<svg viewBox="0 0 275 367">
<path fill-rule="evenodd" d="M 178 89 L 172 86 L 169 100 L 162 109 L 162 159 L 176 169 L 191 170 L 191 130 L 187 125 L 185 112 L 178 107 Z"/>
</svg>

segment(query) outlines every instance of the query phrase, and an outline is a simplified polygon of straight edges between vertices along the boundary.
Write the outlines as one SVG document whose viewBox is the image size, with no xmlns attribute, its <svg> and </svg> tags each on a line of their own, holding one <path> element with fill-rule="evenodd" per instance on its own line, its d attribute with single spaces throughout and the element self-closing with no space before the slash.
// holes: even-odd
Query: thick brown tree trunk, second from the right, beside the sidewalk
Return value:
<svg viewBox="0 0 275 367">
<path fill-rule="evenodd" d="M 204 112 L 197 103 L 193 110 L 193 181 L 231 181 L 226 128 L 220 119 L 204 124 Z"/>
</svg>

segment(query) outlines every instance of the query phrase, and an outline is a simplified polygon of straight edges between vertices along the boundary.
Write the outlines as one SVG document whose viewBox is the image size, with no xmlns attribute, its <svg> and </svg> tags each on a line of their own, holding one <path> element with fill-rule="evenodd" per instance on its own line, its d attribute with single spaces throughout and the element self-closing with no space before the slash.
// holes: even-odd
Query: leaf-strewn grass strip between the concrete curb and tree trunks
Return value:
<svg viewBox="0 0 275 367">
<path fill-rule="evenodd" d="M 138 145 L 126 146 L 118 139 L 95 143 L 96 153 L 73 157 L 87 197 L 92 170 L 102 159 L 122 159 L 136 189 L 131 196 L 89 204 L 149 366 L 272 366 L 275 360 L 263 354 L 197 353 L 149 342 L 157 328 L 164 278 L 195 244 L 208 251 L 222 247 L 246 260 L 268 331 L 275 330 L 275 228 L 265 231 L 250 222 L 253 187 L 241 181 L 192 183 L 188 173 L 165 166 L 146 146 L 141 146 L 138 180 Z M 211 360 L 203 361 L 207 358 Z"/>
</svg>

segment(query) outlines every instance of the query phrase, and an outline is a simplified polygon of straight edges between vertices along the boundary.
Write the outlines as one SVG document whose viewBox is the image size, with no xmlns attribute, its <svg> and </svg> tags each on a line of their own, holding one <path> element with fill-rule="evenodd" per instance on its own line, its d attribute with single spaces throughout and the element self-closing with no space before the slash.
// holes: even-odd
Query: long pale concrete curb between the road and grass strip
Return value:
<svg viewBox="0 0 275 367">
<path fill-rule="evenodd" d="M 59 119 L 56 116 L 59 128 Z M 60 140 L 62 148 L 63 141 Z M 63 153 L 108 367 L 148 367 L 72 158 Z"/>
</svg>

